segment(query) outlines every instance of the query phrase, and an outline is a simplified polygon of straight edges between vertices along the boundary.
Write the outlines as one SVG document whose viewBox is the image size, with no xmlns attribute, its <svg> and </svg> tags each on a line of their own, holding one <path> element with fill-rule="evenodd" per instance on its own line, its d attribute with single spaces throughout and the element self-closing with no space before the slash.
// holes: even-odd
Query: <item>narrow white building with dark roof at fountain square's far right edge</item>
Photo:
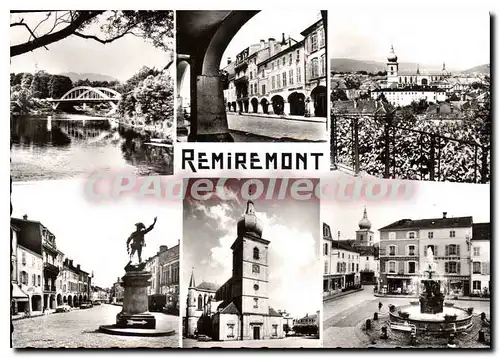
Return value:
<svg viewBox="0 0 500 358">
<path fill-rule="evenodd" d="M 472 225 L 471 240 L 471 293 L 474 295 L 489 296 L 490 286 L 490 223 Z"/>
</svg>

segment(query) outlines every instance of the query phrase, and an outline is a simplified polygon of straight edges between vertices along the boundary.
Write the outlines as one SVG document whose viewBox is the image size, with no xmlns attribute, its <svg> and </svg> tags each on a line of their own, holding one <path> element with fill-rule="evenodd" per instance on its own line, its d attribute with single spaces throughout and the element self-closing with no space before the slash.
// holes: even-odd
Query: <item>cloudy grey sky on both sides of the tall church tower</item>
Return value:
<svg viewBox="0 0 500 358">
<path fill-rule="evenodd" d="M 234 183 L 233 183 L 234 184 Z M 228 185 L 240 190 L 239 184 Z M 269 305 L 294 317 L 321 307 L 319 263 L 319 201 L 254 200 L 269 244 Z M 231 245 L 246 201 L 184 200 L 181 295 L 185 297 L 194 268 L 196 284 L 224 284 L 232 274 Z M 183 291 L 183 292 L 182 292 Z"/>
</svg>

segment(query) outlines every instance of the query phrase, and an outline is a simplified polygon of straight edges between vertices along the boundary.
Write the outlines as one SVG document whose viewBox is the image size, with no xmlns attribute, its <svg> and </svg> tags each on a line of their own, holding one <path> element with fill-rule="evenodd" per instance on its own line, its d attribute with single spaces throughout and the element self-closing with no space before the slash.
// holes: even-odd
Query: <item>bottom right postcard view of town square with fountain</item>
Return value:
<svg viewBox="0 0 500 358">
<path fill-rule="evenodd" d="M 490 187 L 415 183 L 321 204 L 324 348 L 491 347 Z"/>
</svg>

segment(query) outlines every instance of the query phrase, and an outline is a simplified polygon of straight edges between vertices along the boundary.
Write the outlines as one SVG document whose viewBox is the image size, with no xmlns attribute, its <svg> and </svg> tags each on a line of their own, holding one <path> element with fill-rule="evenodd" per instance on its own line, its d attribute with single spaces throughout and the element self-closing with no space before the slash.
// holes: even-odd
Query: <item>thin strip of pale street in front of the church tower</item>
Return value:
<svg viewBox="0 0 500 358">
<path fill-rule="evenodd" d="M 283 339 L 260 339 L 248 341 L 198 342 L 183 339 L 183 348 L 321 348 L 319 339 L 287 337 Z"/>
</svg>

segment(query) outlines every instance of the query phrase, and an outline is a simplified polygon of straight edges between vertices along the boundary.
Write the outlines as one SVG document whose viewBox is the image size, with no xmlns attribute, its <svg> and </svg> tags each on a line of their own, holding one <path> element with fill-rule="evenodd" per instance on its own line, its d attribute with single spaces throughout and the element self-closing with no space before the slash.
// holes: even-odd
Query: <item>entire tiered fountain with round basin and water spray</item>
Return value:
<svg viewBox="0 0 500 358">
<path fill-rule="evenodd" d="M 414 327 L 417 332 L 440 334 L 456 333 L 472 326 L 472 312 L 444 302 L 441 280 L 432 249 L 427 249 L 427 263 L 420 279 L 422 293 L 419 301 L 400 306 L 389 312 L 390 322 L 396 326 Z"/>
</svg>

